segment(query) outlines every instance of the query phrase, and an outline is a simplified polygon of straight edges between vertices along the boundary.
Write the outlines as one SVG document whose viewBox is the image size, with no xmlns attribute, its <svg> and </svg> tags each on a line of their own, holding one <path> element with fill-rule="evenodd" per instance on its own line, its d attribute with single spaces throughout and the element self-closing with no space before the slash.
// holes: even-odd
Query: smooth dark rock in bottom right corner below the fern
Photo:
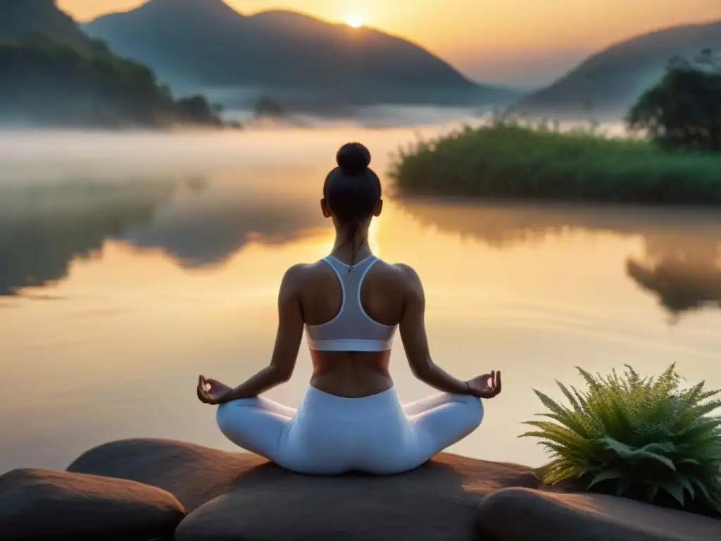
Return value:
<svg viewBox="0 0 721 541">
<path fill-rule="evenodd" d="M 627 498 L 526 488 L 506 488 L 485 498 L 478 524 L 495 541 L 721 539 L 721 520 L 707 516 Z"/>
</svg>

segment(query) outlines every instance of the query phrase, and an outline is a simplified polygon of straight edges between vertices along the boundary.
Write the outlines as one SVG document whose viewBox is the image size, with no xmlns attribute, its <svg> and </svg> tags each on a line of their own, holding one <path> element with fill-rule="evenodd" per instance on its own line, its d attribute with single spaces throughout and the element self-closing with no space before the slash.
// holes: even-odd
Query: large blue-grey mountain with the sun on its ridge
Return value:
<svg viewBox="0 0 721 541">
<path fill-rule="evenodd" d="M 378 30 L 287 11 L 244 16 L 223 0 L 150 0 L 84 30 L 172 84 L 255 89 L 253 100 L 482 104 L 517 97 Z"/>
</svg>

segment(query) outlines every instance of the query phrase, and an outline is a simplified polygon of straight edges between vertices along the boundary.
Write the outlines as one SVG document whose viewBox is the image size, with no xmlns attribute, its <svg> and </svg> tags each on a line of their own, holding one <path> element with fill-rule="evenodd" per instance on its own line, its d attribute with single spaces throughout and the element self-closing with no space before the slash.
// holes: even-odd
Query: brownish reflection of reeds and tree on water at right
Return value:
<svg viewBox="0 0 721 541">
<path fill-rule="evenodd" d="M 710 209 L 434 203 L 424 199 L 401 204 L 422 224 L 498 248 L 578 231 L 640 237 L 645 254 L 642 258 L 629 256 L 625 272 L 643 291 L 658 297 L 672 321 L 691 309 L 721 307 L 721 216 Z"/>
</svg>

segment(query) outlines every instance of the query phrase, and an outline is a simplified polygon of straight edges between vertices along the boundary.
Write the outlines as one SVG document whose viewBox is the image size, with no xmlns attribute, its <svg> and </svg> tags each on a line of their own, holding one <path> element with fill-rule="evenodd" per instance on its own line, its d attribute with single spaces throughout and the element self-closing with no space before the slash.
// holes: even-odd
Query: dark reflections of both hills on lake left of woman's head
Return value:
<svg viewBox="0 0 721 541">
<path fill-rule="evenodd" d="M 82 180 L 0 185 L 0 296 L 48 286 L 109 240 L 179 265 L 223 263 L 249 242 L 278 244 L 321 224 L 317 205 L 224 182 Z M 37 295 L 33 295 L 34 298 Z"/>
</svg>

